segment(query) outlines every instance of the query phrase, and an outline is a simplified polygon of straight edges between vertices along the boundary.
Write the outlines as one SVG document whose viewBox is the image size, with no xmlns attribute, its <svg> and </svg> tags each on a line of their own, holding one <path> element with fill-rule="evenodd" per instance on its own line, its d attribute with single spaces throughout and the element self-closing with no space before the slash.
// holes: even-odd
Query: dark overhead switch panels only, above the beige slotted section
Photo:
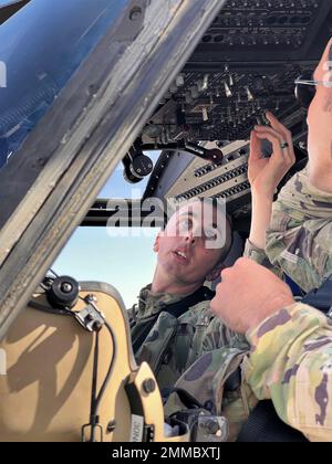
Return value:
<svg viewBox="0 0 332 464">
<path fill-rule="evenodd" d="M 144 144 L 247 139 L 267 109 L 292 115 L 294 81 L 312 73 L 331 35 L 331 1 L 229 0 L 160 102 Z M 290 125 L 302 120 L 299 112 Z"/>
</svg>

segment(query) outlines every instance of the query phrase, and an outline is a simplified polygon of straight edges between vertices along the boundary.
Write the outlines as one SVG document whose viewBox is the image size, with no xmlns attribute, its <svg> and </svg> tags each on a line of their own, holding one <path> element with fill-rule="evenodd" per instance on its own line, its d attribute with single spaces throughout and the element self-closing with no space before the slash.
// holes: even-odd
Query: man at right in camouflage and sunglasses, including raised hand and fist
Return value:
<svg viewBox="0 0 332 464">
<path fill-rule="evenodd" d="M 260 187 L 253 187 L 253 197 L 261 197 L 255 199 L 255 207 L 261 205 L 262 210 L 259 213 L 253 211 L 251 238 L 247 245 L 248 256 L 264 264 L 268 256 L 274 270 L 277 266 L 307 293 L 322 286 L 332 274 L 331 70 L 332 40 L 313 76 L 317 92 L 308 114 L 308 167 L 281 191 L 273 204 L 270 225 L 269 200 L 264 202 L 259 193 Z M 280 144 L 286 164 L 291 165 L 290 133 L 272 116 L 270 122 L 272 128 L 256 128 L 253 149 L 259 145 L 257 139 L 268 138 L 273 144 L 274 154 L 280 152 Z M 251 179 L 253 186 L 256 181 L 269 184 L 272 172 L 278 179 L 277 169 L 264 170 L 264 179 L 260 179 L 260 175 Z M 276 187 L 273 180 L 270 186 Z M 268 229 L 264 225 L 269 225 Z M 266 270 L 257 266 L 253 270 L 255 266 L 253 263 L 240 262 L 234 274 L 226 272 L 225 285 L 219 287 L 220 299 L 214 302 L 214 307 L 230 328 L 247 333 L 252 351 L 243 366 L 257 398 L 271 398 L 279 415 L 309 440 L 332 441 L 331 321 L 309 306 L 294 304 L 283 283 Z M 253 272 L 256 283 L 246 283 L 245 274 L 250 281 Z M 234 278 L 237 295 L 243 291 L 238 282 L 241 286 L 247 284 L 246 293 L 241 294 L 240 302 L 232 298 L 229 305 L 227 298 L 235 289 Z M 241 313 L 234 313 L 236 304 L 242 308 Z"/>
</svg>

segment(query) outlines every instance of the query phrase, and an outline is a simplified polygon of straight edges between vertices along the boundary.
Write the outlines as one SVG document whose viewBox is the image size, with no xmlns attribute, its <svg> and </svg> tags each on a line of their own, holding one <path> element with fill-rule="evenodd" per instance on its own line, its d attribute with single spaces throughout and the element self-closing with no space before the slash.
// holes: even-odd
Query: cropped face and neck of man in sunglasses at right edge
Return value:
<svg viewBox="0 0 332 464">
<path fill-rule="evenodd" d="M 314 154 L 315 150 L 326 149 L 326 146 L 332 144 L 332 39 L 313 78 L 328 83 L 328 85 L 317 86 L 317 93 L 308 113 L 309 151 Z"/>
</svg>

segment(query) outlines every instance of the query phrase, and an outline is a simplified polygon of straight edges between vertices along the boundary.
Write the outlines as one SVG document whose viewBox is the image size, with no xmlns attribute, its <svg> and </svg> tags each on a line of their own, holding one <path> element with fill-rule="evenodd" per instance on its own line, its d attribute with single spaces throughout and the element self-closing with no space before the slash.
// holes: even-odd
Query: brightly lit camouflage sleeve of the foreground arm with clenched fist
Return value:
<svg viewBox="0 0 332 464">
<path fill-rule="evenodd" d="M 331 323 L 332 324 L 332 323 Z M 332 326 L 297 303 L 247 334 L 245 375 L 259 400 L 310 441 L 332 441 Z"/>
</svg>

